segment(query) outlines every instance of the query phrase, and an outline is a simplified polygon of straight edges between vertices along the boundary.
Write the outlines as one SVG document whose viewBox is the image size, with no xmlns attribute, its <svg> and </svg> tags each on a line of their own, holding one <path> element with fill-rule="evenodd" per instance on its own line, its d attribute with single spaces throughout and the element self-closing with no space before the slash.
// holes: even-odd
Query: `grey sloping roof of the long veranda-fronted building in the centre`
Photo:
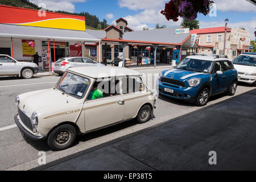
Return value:
<svg viewBox="0 0 256 182">
<path fill-rule="evenodd" d="M 175 34 L 175 30 L 177 28 L 181 27 L 126 32 L 123 35 L 123 40 L 134 40 L 137 42 L 182 44 L 184 40 L 190 36 L 190 34 Z"/>
</svg>

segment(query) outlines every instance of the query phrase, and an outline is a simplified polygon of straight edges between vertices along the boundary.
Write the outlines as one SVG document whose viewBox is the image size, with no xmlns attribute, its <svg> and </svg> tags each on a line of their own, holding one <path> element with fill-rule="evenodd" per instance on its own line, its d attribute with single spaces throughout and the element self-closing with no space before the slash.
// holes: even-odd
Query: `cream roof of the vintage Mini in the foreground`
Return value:
<svg viewBox="0 0 256 182">
<path fill-rule="evenodd" d="M 123 67 L 106 67 L 100 66 L 95 67 L 73 67 L 69 68 L 70 71 L 85 75 L 91 78 L 102 78 L 102 77 L 114 77 L 114 76 L 126 76 L 126 75 L 141 75 L 141 73 L 134 71 L 133 69 Z"/>
</svg>

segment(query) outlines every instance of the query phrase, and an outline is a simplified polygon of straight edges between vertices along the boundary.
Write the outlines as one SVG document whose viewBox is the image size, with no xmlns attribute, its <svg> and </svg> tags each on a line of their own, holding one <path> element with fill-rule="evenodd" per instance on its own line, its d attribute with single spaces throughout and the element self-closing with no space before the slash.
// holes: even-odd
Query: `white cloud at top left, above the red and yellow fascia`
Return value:
<svg viewBox="0 0 256 182">
<path fill-rule="evenodd" d="M 85 2 L 86 0 L 30 0 L 30 2 L 46 7 L 47 10 L 52 11 L 68 11 L 71 13 L 75 12 L 75 5 L 73 3 L 75 2 Z"/>
</svg>

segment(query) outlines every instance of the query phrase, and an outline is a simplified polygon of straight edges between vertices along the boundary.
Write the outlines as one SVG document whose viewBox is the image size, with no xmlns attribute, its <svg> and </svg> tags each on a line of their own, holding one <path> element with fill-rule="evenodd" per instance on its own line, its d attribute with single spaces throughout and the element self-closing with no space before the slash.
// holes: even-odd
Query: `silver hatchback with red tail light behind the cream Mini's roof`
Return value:
<svg viewBox="0 0 256 182">
<path fill-rule="evenodd" d="M 63 57 L 56 61 L 53 72 L 63 75 L 68 68 L 86 66 L 105 66 L 86 57 Z"/>
</svg>

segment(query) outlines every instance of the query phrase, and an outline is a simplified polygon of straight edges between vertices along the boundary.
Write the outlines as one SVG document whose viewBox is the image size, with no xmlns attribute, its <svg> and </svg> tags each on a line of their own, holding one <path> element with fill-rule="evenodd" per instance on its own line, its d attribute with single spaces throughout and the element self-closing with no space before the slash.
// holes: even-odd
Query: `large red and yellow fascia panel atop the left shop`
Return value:
<svg viewBox="0 0 256 182">
<path fill-rule="evenodd" d="M 0 5 L 0 23 L 85 31 L 85 17 Z"/>
</svg>

